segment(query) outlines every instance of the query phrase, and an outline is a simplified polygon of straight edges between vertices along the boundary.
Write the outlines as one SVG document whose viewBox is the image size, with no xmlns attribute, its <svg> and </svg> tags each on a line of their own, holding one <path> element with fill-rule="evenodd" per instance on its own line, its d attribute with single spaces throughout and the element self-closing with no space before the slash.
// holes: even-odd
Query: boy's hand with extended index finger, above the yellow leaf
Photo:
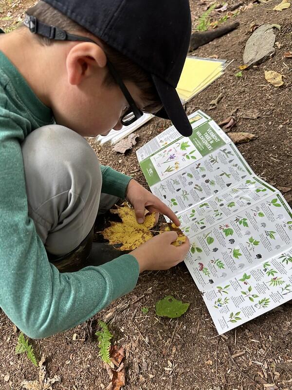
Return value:
<svg viewBox="0 0 292 390">
<path fill-rule="evenodd" d="M 170 218 L 176 226 L 180 226 L 179 218 L 167 207 L 157 196 L 151 194 L 136 180 L 131 179 L 128 184 L 126 199 L 135 209 L 138 223 L 143 223 L 145 219 L 145 209 L 150 213 L 161 213 Z"/>
</svg>

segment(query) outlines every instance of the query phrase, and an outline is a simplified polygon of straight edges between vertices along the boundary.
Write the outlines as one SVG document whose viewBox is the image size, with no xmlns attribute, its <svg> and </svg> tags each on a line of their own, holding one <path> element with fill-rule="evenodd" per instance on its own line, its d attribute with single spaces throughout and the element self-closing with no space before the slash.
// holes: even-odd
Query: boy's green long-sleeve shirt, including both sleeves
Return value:
<svg viewBox="0 0 292 390">
<path fill-rule="evenodd" d="M 20 144 L 53 122 L 52 111 L 0 52 L 0 307 L 32 338 L 86 321 L 131 291 L 139 274 L 129 254 L 74 273 L 59 273 L 49 263 L 28 216 Z M 102 192 L 125 196 L 129 176 L 110 167 L 102 167 L 102 176 Z"/>
</svg>

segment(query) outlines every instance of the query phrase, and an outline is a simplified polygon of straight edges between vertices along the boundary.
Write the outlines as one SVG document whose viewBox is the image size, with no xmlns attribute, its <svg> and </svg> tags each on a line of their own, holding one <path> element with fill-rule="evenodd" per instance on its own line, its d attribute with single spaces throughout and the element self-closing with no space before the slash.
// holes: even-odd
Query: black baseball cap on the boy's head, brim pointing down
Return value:
<svg viewBox="0 0 292 390">
<path fill-rule="evenodd" d="M 188 0 L 44 0 L 151 75 L 170 119 L 183 136 L 192 127 L 176 92 L 191 35 Z"/>
</svg>

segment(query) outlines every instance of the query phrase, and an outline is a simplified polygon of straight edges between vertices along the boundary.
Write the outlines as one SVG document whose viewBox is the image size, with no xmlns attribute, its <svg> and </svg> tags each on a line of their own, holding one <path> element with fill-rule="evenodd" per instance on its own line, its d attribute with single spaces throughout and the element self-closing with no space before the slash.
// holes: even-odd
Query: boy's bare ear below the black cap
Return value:
<svg viewBox="0 0 292 390">
<path fill-rule="evenodd" d="M 99 45 L 91 42 L 78 43 L 70 49 L 67 55 L 68 81 L 72 85 L 79 85 L 84 78 L 96 72 L 98 68 L 105 68 L 106 64 L 106 54 Z"/>
</svg>

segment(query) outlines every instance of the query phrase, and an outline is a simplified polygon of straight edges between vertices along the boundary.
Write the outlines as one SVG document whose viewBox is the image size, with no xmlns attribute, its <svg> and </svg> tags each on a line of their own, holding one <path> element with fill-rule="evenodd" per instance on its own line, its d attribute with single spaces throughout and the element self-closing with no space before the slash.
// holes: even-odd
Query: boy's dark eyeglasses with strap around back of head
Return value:
<svg viewBox="0 0 292 390">
<path fill-rule="evenodd" d="M 84 41 L 84 42 L 91 42 L 95 43 L 94 40 L 86 37 L 82 37 L 79 35 L 69 34 L 65 30 L 62 30 L 55 26 L 49 26 L 48 24 L 42 23 L 39 20 L 37 20 L 36 17 L 25 15 L 25 19 L 23 21 L 23 24 L 29 28 L 29 30 L 33 34 L 39 34 L 45 38 L 48 39 L 54 39 L 54 40 L 71 40 L 71 41 Z M 110 74 L 112 78 L 115 80 L 115 82 L 119 85 L 123 95 L 125 96 L 129 108 L 128 110 L 123 114 L 123 116 L 120 118 L 120 121 L 122 125 L 128 126 L 132 123 L 134 123 L 137 119 L 141 118 L 143 115 L 143 112 L 137 107 L 134 99 L 131 97 L 128 88 L 124 84 L 122 78 L 112 65 L 112 63 L 107 59 L 107 66 L 110 71 Z"/>
</svg>

